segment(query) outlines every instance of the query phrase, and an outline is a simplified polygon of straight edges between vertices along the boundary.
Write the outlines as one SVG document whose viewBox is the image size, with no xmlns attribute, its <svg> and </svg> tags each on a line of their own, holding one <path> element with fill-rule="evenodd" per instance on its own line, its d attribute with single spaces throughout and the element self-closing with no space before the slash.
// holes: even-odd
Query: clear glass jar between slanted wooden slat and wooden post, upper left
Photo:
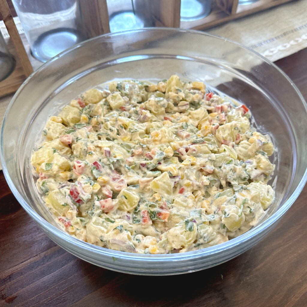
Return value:
<svg viewBox="0 0 307 307">
<path fill-rule="evenodd" d="M 12 0 L 32 55 L 42 62 L 83 41 L 77 0 Z"/>
</svg>

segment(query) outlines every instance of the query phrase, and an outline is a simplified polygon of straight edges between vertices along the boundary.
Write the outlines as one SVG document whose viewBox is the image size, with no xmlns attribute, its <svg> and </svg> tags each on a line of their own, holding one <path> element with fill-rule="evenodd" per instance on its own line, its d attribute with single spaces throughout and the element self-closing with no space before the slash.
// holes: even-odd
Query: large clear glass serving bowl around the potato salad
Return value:
<svg viewBox="0 0 307 307">
<path fill-rule="evenodd" d="M 113 79 L 162 80 L 172 74 L 203 81 L 250 108 L 260 132 L 277 151 L 270 182 L 275 199 L 261 223 L 245 234 L 206 249 L 167 255 L 113 251 L 60 229 L 37 192 L 30 156 L 49 115 L 78 94 Z M 106 34 L 62 52 L 34 72 L 6 111 L 1 162 L 17 200 L 41 229 L 73 255 L 110 270 L 167 275 L 202 270 L 240 255 L 271 231 L 305 185 L 307 106 L 274 64 L 235 42 L 202 32 L 152 28 Z"/>
</svg>

